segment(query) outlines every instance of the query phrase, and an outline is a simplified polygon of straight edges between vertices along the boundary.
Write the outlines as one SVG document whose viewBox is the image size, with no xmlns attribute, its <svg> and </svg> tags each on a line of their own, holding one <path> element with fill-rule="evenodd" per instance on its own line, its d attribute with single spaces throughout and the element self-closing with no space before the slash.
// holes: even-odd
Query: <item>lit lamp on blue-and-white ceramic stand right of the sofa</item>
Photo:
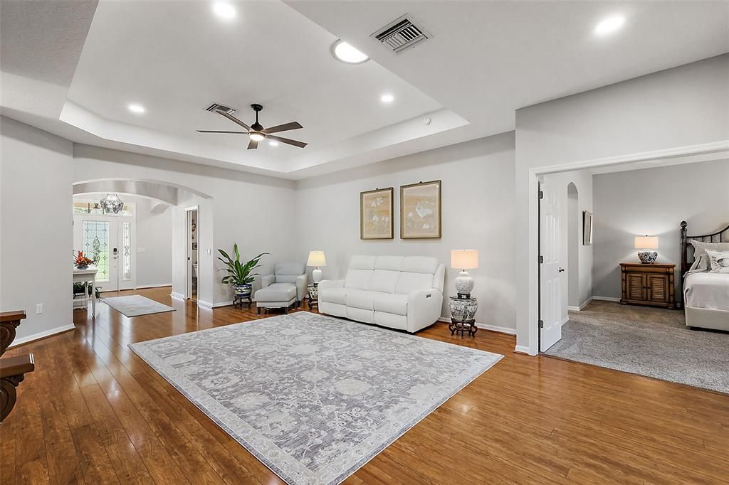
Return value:
<svg viewBox="0 0 729 485">
<path fill-rule="evenodd" d="M 469 336 L 476 336 L 476 310 L 478 300 L 471 296 L 473 291 L 473 278 L 466 271 L 467 269 L 478 268 L 478 250 L 476 249 L 453 249 L 451 251 L 451 267 L 461 269 L 456 277 L 456 296 L 448 299 L 448 309 L 451 310 L 451 324 L 448 330 L 451 335 L 461 332 L 461 337 L 467 332 Z"/>
</svg>

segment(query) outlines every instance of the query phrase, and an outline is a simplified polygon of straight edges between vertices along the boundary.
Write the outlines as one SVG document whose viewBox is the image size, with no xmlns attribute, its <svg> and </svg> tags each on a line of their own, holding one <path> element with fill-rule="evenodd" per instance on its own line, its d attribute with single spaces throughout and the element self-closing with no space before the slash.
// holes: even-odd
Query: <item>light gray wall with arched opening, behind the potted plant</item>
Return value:
<svg viewBox="0 0 729 485">
<path fill-rule="evenodd" d="M 99 178 L 132 178 L 156 181 L 187 190 L 172 211 L 172 230 L 182 237 L 173 243 L 172 283 L 175 293 L 184 293 L 184 207 L 200 205 L 198 251 L 198 299 L 201 304 L 225 304 L 232 299 L 227 285 L 219 283 L 217 248 L 233 248 L 238 242 L 241 258 L 269 252 L 262 272 L 275 261 L 292 258 L 296 240 L 295 184 L 279 178 L 196 165 L 179 160 L 74 145 L 74 181 Z M 175 237 L 174 239 L 176 239 Z M 182 271 L 182 273 L 180 273 Z"/>
</svg>

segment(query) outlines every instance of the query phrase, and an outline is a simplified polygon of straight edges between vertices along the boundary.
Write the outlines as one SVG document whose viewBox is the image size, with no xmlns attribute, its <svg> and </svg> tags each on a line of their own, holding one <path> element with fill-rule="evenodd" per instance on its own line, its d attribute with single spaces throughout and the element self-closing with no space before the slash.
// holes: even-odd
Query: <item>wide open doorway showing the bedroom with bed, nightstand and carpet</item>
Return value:
<svg viewBox="0 0 729 485">
<path fill-rule="evenodd" d="M 729 393 L 729 274 L 690 243 L 729 251 L 725 155 L 542 177 L 542 355 Z"/>
</svg>

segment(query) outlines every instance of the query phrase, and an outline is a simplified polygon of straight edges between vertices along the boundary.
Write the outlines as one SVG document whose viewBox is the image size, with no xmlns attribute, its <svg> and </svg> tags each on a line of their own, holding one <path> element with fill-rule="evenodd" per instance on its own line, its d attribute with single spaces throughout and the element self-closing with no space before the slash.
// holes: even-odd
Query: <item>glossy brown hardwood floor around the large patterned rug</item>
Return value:
<svg viewBox="0 0 729 485">
<path fill-rule="evenodd" d="M 77 329 L 15 347 L 36 371 L 0 427 L 0 483 L 277 484 L 281 481 L 127 348 L 255 320 L 137 293 L 176 312 L 125 318 L 105 304 Z M 120 294 L 126 294 L 122 292 Z M 505 355 L 349 477 L 347 484 L 729 483 L 729 395 L 519 355 L 480 330 L 419 335 Z"/>
</svg>

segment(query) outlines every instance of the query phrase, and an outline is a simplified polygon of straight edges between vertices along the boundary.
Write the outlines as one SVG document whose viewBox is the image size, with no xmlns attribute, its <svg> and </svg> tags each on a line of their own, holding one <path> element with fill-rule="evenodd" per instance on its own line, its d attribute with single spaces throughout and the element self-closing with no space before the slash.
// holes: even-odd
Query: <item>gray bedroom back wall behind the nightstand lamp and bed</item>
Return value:
<svg viewBox="0 0 729 485">
<path fill-rule="evenodd" d="M 595 295 L 620 298 L 621 262 L 638 262 L 634 237 L 658 236 L 658 262 L 681 268 L 679 224 L 706 234 L 729 224 L 729 160 L 594 176 Z"/>
</svg>

